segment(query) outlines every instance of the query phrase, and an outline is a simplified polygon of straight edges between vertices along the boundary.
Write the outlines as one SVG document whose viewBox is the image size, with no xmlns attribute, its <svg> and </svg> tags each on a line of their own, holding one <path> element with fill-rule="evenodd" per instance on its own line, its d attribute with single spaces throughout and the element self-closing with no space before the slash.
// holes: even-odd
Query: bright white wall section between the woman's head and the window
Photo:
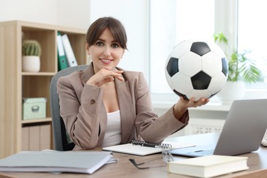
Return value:
<svg viewBox="0 0 267 178">
<path fill-rule="evenodd" d="M 102 16 L 118 18 L 127 31 L 127 48 L 119 66 L 142 71 L 149 79 L 149 0 L 92 0 L 90 20 Z"/>
</svg>

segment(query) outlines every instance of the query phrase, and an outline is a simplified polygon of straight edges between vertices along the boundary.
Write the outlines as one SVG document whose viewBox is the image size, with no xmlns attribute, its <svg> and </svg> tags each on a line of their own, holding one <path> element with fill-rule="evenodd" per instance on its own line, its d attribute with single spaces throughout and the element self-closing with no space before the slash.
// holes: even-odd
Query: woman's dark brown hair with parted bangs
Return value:
<svg viewBox="0 0 267 178">
<path fill-rule="evenodd" d="M 102 17 L 92 23 L 86 34 L 86 42 L 88 46 L 92 46 L 105 29 L 110 29 L 110 32 L 121 48 L 127 49 L 127 35 L 123 24 L 113 17 Z"/>
</svg>

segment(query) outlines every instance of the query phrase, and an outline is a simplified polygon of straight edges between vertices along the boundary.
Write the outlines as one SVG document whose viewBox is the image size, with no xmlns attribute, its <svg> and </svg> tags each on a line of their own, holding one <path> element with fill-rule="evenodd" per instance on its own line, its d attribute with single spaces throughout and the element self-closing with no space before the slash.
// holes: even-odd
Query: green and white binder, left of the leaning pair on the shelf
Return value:
<svg viewBox="0 0 267 178">
<path fill-rule="evenodd" d="M 58 71 L 61 71 L 64 68 L 68 68 L 68 63 L 64 52 L 62 36 L 59 31 L 57 36 L 57 46 L 58 46 Z"/>
</svg>

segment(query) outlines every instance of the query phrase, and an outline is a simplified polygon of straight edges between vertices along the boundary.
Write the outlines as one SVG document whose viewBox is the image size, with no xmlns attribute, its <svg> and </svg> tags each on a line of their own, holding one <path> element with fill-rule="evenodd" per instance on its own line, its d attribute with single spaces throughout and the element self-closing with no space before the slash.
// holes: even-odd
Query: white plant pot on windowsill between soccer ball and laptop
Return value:
<svg viewBox="0 0 267 178">
<path fill-rule="evenodd" d="M 234 100 L 243 99 L 244 93 L 245 84 L 243 81 L 227 81 L 216 96 L 220 103 L 231 104 Z"/>
</svg>

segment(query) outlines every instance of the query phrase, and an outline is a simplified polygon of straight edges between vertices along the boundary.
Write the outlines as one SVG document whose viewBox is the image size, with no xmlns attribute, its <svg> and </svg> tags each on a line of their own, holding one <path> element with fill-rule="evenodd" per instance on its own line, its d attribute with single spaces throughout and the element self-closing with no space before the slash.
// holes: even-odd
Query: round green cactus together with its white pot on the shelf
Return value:
<svg viewBox="0 0 267 178">
<path fill-rule="evenodd" d="M 22 44 L 22 55 L 23 72 L 40 71 L 41 46 L 37 40 L 24 40 Z"/>
</svg>

